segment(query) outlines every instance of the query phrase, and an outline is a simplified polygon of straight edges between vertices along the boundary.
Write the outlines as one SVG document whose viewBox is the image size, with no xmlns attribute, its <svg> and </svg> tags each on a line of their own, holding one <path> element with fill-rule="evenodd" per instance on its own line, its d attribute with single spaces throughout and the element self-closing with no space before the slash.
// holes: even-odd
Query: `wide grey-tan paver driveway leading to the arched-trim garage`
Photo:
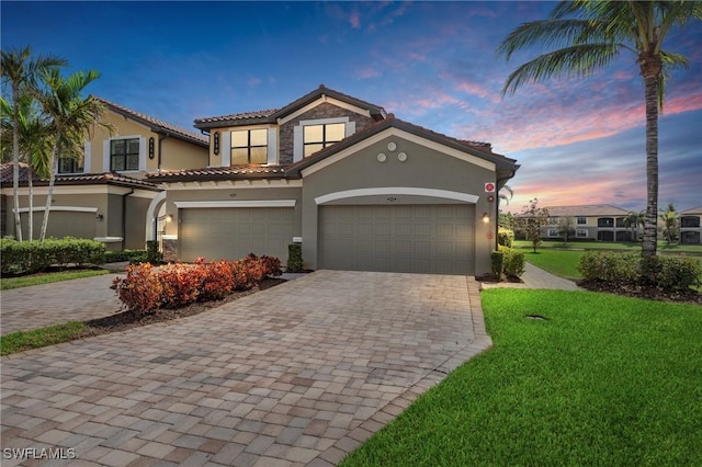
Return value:
<svg viewBox="0 0 702 467">
<path fill-rule="evenodd" d="M 318 271 L 2 357 L 2 447 L 71 465 L 333 465 L 489 344 L 472 277 Z"/>
</svg>

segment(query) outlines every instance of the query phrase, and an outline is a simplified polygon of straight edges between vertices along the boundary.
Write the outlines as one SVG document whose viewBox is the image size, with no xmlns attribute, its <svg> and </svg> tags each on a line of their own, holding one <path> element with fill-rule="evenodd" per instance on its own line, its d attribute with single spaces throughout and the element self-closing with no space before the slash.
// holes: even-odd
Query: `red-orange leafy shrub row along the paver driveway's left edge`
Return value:
<svg viewBox="0 0 702 467">
<path fill-rule="evenodd" d="M 150 263 L 132 264 L 126 277 L 115 277 L 110 288 L 123 308 L 150 312 L 220 299 L 234 291 L 252 288 L 265 276 L 281 274 L 278 258 L 248 254 L 239 261 L 210 263 L 199 258 L 193 264 L 169 263 L 158 269 Z"/>
</svg>

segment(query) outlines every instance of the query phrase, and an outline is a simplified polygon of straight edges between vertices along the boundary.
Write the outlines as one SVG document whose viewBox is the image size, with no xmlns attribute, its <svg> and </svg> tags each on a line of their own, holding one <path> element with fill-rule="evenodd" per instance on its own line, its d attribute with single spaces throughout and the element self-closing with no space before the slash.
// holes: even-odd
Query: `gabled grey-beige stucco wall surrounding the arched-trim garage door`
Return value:
<svg viewBox="0 0 702 467">
<path fill-rule="evenodd" d="M 388 144 L 396 148 L 388 150 Z M 398 160 L 398 155 L 407 155 L 406 161 Z M 377 157 L 384 153 L 385 162 Z M 329 158 L 327 161 L 333 159 Z M 325 164 L 322 161 L 319 166 Z M 485 163 L 484 163 L 485 164 Z M 490 271 L 490 252 L 495 248 L 496 216 L 495 202 L 488 202 L 484 193 L 484 183 L 496 182 L 492 169 L 479 167 L 424 145 L 388 136 L 377 143 L 352 153 L 320 170 L 304 175 L 303 190 L 303 258 L 312 269 L 317 267 L 318 246 L 318 206 L 315 198 L 329 193 L 374 187 L 417 187 L 457 192 L 477 196 L 475 203 L 475 255 L 476 274 Z M 453 200 L 433 196 L 387 195 L 339 200 L 336 204 L 441 204 L 461 203 Z M 490 214 L 490 223 L 482 221 L 483 213 Z M 491 235 L 491 238 L 488 237 Z"/>
</svg>

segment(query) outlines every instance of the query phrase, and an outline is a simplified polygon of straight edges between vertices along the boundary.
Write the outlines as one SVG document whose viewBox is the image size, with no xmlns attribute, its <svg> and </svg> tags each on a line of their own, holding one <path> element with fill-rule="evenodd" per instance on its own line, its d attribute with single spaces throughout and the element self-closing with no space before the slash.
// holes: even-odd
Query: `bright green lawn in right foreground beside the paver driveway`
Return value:
<svg viewBox="0 0 702 467">
<path fill-rule="evenodd" d="M 482 297 L 494 348 L 343 466 L 702 465 L 700 307 L 565 291 Z"/>
</svg>

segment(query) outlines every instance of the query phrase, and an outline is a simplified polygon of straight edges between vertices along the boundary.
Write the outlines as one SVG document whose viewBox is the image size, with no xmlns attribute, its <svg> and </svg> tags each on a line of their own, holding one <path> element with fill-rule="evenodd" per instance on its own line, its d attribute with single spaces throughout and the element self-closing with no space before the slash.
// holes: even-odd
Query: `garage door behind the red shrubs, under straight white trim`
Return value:
<svg viewBox="0 0 702 467">
<path fill-rule="evenodd" d="M 181 219 L 181 259 L 238 260 L 249 253 L 287 260 L 294 232 L 292 207 L 188 208 Z"/>
</svg>

